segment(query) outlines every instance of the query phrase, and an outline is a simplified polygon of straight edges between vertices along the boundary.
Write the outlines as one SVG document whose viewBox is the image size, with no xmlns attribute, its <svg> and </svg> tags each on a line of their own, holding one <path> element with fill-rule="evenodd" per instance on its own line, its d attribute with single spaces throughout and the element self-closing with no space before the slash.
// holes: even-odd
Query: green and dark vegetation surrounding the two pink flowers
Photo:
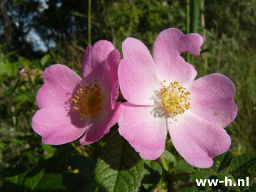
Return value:
<svg viewBox="0 0 256 192">
<path fill-rule="evenodd" d="M 19 187 L 24 191 L 53 191 L 54 187 L 60 191 L 251 191 L 256 177 L 255 7 L 255 0 L 92 1 L 90 40 L 88 1 L 1 0 L 0 186 L 4 178 L 6 181 L 0 191 L 21 191 Z M 104 156 L 104 150 L 108 151 L 104 144 L 112 146 L 108 140 L 111 134 L 119 137 L 116 127 L 104 140 L 92 145 L 80 146 L 75 141 L 54 147 L 41 143 L 40 136 L 32 131 L 31 118 L 38 109 L 35 95 L 43 84 L 42 73 L 47 66 L 61 63 L 80 73 L 82 55 L 90 41 L 93 44 L 100 39 L 110 40 L 121 52 L 122 41 L 133 36 L 151 48 L 156 35 L 170 27 L 179 28 L 184 33 L 198 32 L 204 37 L 200 57 L 184 54 L 195 65 L 197 78 L 222 73 L 234 82 L 237 89 L 238 115 L 226 128 L 232 136 L 232 147 L 228 153 L 214 158 L 213 168 L 192 168 L 167 141 L 166 148 L 171 152 L 165 152 L 167 170 L 159 161 L 145 161 L 143 165 L 142 160 L 134 155 L 136 166 L 129 164 L 125 167 L 142 172 L 142 183 L 134 181 L 135 188 L 127 189 L 113 188 L 113 185 L 106 187 L 108 180 L 103 182 L 98 172 L 95 176 L 94 166 L 97 169 L 108 167 L 108 162 L 99 159 L 98 154 Z M 126 149 L 134 153 L 126 141 L 117 140 L 123 147 L 119 151 Z M 112 170 L 113 174 L 129 178 L 120 166 Z M 28 178 L 42 176 L 45 184 L 49 180 L 55 183 L 60 180 L 62 184 L 47 185 L 48 188 L 42 183 L 38 186 L 33 183 L 35 179 L 24 180 L 27 173 L 31 176 Z M 142 178 L 142 174 L 137 177 Z M 232 179 L 250 176 L 251 188 L 221 185 L 195 188 L 195 178 L 221 179 L 224 176 Z M 129 180 L 133 181 L 133 178 Z"/>
</svg>

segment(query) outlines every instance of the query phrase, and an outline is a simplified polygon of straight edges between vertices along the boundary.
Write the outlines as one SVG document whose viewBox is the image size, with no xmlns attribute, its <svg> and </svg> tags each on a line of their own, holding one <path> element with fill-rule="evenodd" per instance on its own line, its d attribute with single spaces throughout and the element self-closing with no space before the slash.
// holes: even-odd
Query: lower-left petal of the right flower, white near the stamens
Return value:
<svg viewBox="0 0 256 192">
<path fill-rule="evenodd" d="M 119 133 L 142 158 L 155 160 L 164 151 L 167 136 L 166 118 L 159 117 L 155 106 L 122 103 L 118 120 Z"/>
</svg>

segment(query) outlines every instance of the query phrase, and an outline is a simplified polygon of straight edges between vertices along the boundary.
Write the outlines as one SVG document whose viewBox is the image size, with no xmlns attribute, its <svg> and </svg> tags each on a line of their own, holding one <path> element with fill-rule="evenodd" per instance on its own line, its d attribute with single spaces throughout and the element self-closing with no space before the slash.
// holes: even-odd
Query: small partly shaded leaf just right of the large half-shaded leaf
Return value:
<svg viewBox="0 0 256 192">
<path fill-rule="evenodd" d="M 162 166 L 156 161 L 145 160 L 142 185 L 147 191 L 154 189 L 162 176 Z"/>
</svg>

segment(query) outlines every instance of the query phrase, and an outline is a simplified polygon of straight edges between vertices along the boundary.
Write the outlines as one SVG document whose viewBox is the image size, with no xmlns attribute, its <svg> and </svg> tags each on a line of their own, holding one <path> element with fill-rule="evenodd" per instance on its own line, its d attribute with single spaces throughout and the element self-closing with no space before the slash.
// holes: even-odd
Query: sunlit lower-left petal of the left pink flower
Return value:
<svg viewBox="0 0 256 192">
<path fill-rule="evenodd" d="M 36 111 L 32 118 L 33 130 L 42 136 L 44 144 L 60 145 L 78 139 L 85 132 L 90 118 L 81 120 L 79 111 L 51 107 Z"/>
</svg>

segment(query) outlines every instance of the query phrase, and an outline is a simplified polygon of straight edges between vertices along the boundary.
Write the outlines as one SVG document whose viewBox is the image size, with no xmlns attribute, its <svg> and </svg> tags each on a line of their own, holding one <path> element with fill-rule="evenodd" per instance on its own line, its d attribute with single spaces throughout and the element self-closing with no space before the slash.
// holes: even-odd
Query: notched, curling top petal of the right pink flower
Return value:
<svg viewBox="0 0 256 192">
<path fill-rule="evenodd" d="M 176 28 L 160 32 L 153 47 L 160 76 L 167 82 L 178 81 L 183 86 L 191 84 L 197 72 L 180 54 L 188 51 L 192 55 L 200 55 L 202 44 L 203 38 L 199 34 L 184 35 Z"/>
</svg>

